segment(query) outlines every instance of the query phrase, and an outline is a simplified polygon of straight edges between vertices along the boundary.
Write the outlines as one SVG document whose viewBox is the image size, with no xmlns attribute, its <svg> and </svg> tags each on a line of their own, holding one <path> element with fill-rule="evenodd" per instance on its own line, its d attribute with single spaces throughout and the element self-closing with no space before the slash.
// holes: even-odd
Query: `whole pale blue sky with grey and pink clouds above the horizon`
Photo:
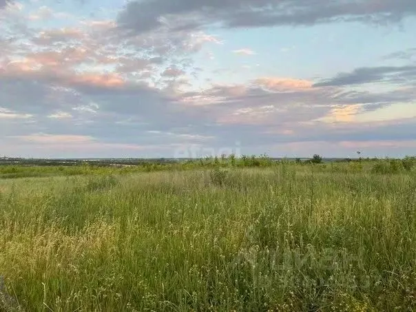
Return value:
<svg viewBox="0 0 416 312">
<path fill-rule="evenodd" d="M 416 155 L 415 0 L 0 0 L 0 157 Z"/>
</svg>

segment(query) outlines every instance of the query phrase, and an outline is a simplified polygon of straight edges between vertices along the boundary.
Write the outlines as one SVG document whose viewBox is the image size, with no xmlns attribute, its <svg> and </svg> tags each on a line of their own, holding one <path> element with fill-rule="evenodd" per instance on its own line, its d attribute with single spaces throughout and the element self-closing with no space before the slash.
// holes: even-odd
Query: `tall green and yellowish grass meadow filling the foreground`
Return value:
<svg viewBox="0 0 416 312">
<path fill-rule="evenodd" d="M 0 311 L 416 311 L 416 171 L 383 166 L 0 169 Z"/>
</svg>

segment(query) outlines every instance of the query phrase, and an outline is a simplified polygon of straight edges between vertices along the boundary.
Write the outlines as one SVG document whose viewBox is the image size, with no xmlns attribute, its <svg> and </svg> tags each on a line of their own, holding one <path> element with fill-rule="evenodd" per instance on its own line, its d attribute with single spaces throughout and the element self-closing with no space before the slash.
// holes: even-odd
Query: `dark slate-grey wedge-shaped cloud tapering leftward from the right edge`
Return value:
<svg viewBox="0 0 416 312">
<path fill-rule="evenodd" d="M 331 79 L 315 83 L 313 87 L 360 85 L 363 83 L 406 83 L 416 79 L 416 65 L 361 67 L 343 72 Z"/>
</svg>

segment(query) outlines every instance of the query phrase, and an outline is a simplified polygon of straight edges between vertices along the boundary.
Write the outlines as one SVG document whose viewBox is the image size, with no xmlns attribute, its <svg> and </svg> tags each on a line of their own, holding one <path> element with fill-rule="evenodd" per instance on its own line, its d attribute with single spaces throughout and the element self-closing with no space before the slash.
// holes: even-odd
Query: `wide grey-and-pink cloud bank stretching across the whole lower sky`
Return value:
<svg viewBox="0 0 416 312">
<path fill-rule="evenodd" d="M 63 33 L 72 37 L 72 32 Z M 59 40 L 66 42 L 62 38 Z M 157 149 L 156 146 L 163 144 L 198 141 L 220 146 L 240 139 L 247 148 L 255 148 L 260 143 L 268 145 L 289 140 L 332 142 L 348 138 L 354 141 L 363 133 L 366 134 L 363 140 L 380 136 L 402 140 L 404 134 L 391 130 L 377 134 L 385 125 L 375 127 L 377 131 L 373 132 L 364 131 L 362 125 L 359 129 L 342 128 L 342 125 L 357 125 L 357 114 L 370 111 L 370 107 L 379 105 L 377 107 L 381 108 L 414 98 L 415 90 L 411 87 L 377 93 L 347 90 L 343 85 L 312 87 L 312 81 L 273 76 L 259 77 L 249 83 L 215 84 L 202 90 L 181 92 L 151 85 L 145 79 L 127 74 L 129 69 L 139 72 L 158 65 L 156 72 L 163 76 L 165 70 L 173 70 L 165 78 L 176 78 L 186 72 L 183 65 L 160 66 L 165 63 L 163 56 L 161 59 L 135 53 L 120 56 L 110 46 L 107 54 L 96 53 L 99 51 L 94 48 L 98 44 L 96 41 L 82 40 L 86 40 L 82 48 L 63 48 L 68 57 L 52 53 L 54 51 L 28 52 L 25 58 L 15 59 L 1 72 L 1 103 L 12 103 L 12 107 L 6 109 L 13 110 L 14 114 L 31 114 L 37 121 L 20 129 L 9 126 L 3 133 L 16 136 L 12 132 L 21 132 L 19 136 L 26 140 L 23 142 L 36 141 L 33 144 L 53 141 L 52 136 L 87 136 L 97 140 L 94 141 L 96 150 L 101 151 L 116 144 L 125 145 L 126 149 L 134 146 L 129 150 L 136 150 L 136 147 L 142 150 L 143 146 L 152 145 Z M 59 64 L 54 63 L 59 57 Z M 119 70 L 120 66 L 106 73 L 94 65 L 89 70 L 77 67 L 77 62 L 114 66 L 119 61 L 125 70 Z M 366 103 L 369 105 L 364 105 Z M 380 114 L 379 110 L 375 112 Z M 320 119 L 331 114 L 337 116 L 331 123 Z M 70 122 L 62 123 L 66 117 Z M 375 116 L 367 118 L 370 118 L 367 123 L 372 123 L 371 118 Z M 410 125 L 407 127 L 407 132 L 414 130 Z M 56 129 L 60 129 L 61 134 L 53 134 Z M 39 135 L 40 132 L 49 134 Z M 54 148 L 63 144 L 57 141 Z M 175 148 L 165 146 L 163 150 L 173 154 Z"/>
</svg>

